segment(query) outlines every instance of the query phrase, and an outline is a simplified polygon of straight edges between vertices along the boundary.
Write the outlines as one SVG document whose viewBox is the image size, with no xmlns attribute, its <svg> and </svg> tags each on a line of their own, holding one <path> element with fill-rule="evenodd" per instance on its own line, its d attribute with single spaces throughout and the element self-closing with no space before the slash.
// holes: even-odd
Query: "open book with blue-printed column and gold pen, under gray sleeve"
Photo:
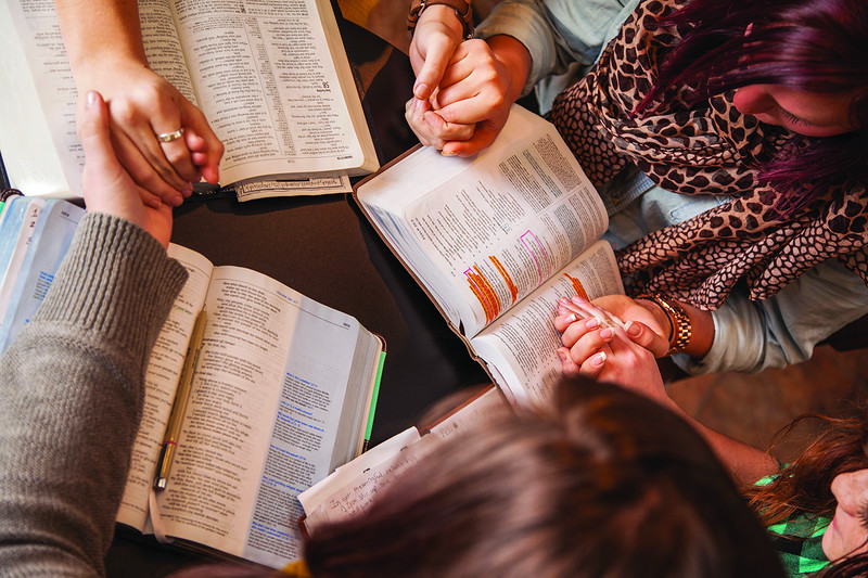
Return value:
<svg viewBox="0 0 868 578">
<path fill-rule="evenodd" d="M 13 210 L 18 203 L 23 211 Z M 44 296 L 81 216 L 63 201 L 17 197 L 4 211 L 0 246 L 18 236 L 13 223 L 28 222 L 35 204 L 41 207 L 14 283 L 25 288 L 13 291 L 2 325 L 10 338 Z M 10 270 L 12 253 L 0 253 L 0 269 Z M 370 436 L 383 343 L 356 319 L 261 273 L 215 268 L 178 245 L 169 255 L 190 279 L 151 355 L 117 521 L 280 567 L 299 555 L 296 496 L 358 455 Z M 184 352 L 203 309 L 207 323 L 177 453 L 166 488 L 154 493 Z M 8 331 L 13 318 L 18 325 Z"/>
</svg>

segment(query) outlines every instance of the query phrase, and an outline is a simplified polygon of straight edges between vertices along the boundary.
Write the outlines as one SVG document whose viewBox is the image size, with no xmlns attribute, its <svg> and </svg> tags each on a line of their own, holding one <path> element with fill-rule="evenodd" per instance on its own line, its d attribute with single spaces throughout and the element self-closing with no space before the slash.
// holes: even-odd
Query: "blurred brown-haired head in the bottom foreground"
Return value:
<svg viewBox="0 0 868 578">
<path fill-rule="evenodd" d="M 542 415 L 444 445 L 365 516 L 318 528 L 305 558 L 317 578 L 782 576 L 688 424 L 579 377 Z"/>
</svg>

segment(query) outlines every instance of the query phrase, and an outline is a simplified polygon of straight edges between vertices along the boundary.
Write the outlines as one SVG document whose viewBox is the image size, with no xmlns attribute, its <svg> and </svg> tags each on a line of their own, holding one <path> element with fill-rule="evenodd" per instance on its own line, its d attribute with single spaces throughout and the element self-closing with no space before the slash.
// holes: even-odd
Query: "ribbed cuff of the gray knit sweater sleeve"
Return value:
<svg viewBox="0 0 868 578">
<path fill-rule="evenodd" d="M 78 325 L 146 359 L 187 277 L 144 229 L 88 213 L 34 322 Z"/>
</svg>

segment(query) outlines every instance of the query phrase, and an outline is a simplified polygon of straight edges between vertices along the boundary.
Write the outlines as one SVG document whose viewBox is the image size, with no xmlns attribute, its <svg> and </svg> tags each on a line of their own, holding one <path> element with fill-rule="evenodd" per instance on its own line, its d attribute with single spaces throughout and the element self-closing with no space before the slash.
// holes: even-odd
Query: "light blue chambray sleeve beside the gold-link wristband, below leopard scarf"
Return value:
<svg viewBox="0 0 868 578">
<path fill-rule="evenodd" d="M 778 294 L 751 301 L 732 292 L 714 311 L 715 338 L 701 360 L 674 361 L 690 373 L 757 372 L 808 359 L 817 343 L 868 313 L 868 287 L 837 260 L 816 267 Z"/>
</svg>

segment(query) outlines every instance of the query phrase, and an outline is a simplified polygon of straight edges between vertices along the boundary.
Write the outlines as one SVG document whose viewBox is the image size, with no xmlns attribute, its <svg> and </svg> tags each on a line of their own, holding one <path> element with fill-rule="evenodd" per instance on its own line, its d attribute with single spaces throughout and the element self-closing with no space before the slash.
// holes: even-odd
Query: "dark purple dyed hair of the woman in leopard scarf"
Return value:
<svg viewBox="0 0 868 578">
<path fill-rule="evenodd" d="M 781 193 L 783 215 L 830 187 L 868 182 L 868 1 L 693 0 L 658 25 L 675 26 L 682 41 L 635 112 L 665 107 L 686 85 L 697 87 L 680 94 L 688 104 L 748 85 L 852 95 L 854 131 L 805 137 L 757 168 Z"/>
</svg>

